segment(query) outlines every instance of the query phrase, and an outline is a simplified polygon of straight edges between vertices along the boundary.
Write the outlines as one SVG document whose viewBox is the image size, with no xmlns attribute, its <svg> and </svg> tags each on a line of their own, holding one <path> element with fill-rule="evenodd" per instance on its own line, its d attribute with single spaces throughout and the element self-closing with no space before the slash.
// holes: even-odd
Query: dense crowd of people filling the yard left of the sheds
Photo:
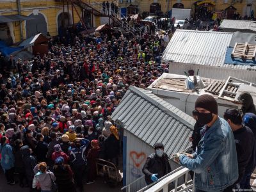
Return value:
<svg viewBox="0 0 256 192">
<path fill-rule="evenodd" d="M 60 42 L 1 65 L 1 167 L 8 184 L 30 191 L 83 191 L 96 180 L 96 158 L 118 168 L 122 131 L 111 114 L 130 85 L 145 88 L 168 72 L 163 36 L 67 31 Z"/>
</svg>

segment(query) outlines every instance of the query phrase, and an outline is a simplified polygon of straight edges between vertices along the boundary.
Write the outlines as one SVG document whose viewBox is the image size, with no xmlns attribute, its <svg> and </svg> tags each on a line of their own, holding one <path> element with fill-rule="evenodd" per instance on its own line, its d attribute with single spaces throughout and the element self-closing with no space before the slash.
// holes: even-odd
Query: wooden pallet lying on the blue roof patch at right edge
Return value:
<svg viewBox="0 0 256 192">
<path fill-rule="evenodd" d="M 246 42 L 245 44 L 236 43 L 231 56 L 232 58 L 242 58 L 248 60 L 255 60 L 256 45 L 251 45 Z"/>
</svg>

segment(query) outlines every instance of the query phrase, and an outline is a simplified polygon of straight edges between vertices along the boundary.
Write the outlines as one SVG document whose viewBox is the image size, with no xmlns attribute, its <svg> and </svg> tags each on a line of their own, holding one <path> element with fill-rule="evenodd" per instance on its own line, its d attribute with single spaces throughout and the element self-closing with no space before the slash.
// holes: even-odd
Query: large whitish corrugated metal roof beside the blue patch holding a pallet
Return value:
<svg viewBox="0 0 256 192">
<path fill-rule="evenodd" d="M 220 66 L 233 33 L 177 30 L 163 53 L 175 63 Z"/>
</svg>

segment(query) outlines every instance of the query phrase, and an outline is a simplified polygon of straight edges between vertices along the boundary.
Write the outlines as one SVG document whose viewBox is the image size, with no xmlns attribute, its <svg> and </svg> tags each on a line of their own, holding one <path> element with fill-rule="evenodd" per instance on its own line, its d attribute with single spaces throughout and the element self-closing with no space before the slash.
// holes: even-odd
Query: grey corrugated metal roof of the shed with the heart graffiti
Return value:
<svg viewBox="0 0 256 192">
<path fill-rule="evenodd" d="M 125 93 L 111 118 L 152 147 L 164 144 L 168 156 L 188 148 L 193 132 L 193 117 L 154 95 L 133 86 Z"/>
</svg>

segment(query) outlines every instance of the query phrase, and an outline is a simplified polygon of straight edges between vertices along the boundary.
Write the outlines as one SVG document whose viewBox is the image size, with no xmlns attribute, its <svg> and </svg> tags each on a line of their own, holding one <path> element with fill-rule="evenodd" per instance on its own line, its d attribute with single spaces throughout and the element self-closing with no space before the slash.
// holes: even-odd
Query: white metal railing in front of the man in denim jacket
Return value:
<svg viewBox="0 0 256 192">
<path fill-rule="evenodd" d="M 174 188 L 171 188 L 172 192 L 182 192 L 182 191 L 195 191 L 194 181 L 188 180 L 189 170 L 188 168 L 181 167 L 177 172 L 172 173 L 171 175 L 164 177 L 159 182 L 154 184 L 152 187 L 147 188 L 146 190 L 141 189 L 139 192 L 158 192 L 163 190 L 163 192 L 170 191 L 170 184 L 174 184 Z M 184 184 L 178 186 L 178 179 L 185 177 Z"/>
</svg>

